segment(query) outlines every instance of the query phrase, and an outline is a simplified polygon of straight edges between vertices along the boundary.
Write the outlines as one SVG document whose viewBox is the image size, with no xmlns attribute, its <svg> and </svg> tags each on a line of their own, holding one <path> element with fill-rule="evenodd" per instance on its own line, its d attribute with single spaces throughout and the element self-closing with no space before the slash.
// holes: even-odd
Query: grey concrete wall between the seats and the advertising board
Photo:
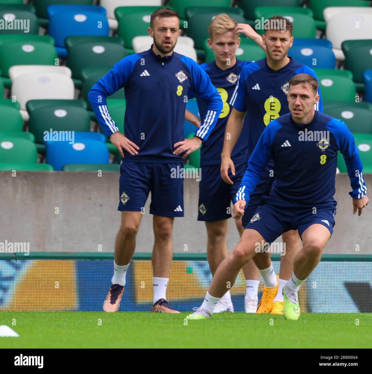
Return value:
<svg viewBox="0 0 372 374">
<path fill-rule="evenodd" d="M 365 175 L 368 188 L 372 175 Z M 198 182 L 185 180 L 185 217 L 174 222 L 174 252 L 206 251 L 205 224 L 196 220 Z M 321 186 L 319 186 L 321 188 Z M 352 214 L 348 176 L 336 175 L 336 226 L 324 253 L 371 254 L 372 203 L 361 217 Z M 112 252 L 120 226 L 119 175 L 68 172 L 0 172 L 0 242 L 30 242 L 30 251 Z M 56 208 L 59 214 L 55 214 Z M 152 216 L 145 206 L 137 236 L 138 252 L 151 252 Z M 228 249 L 238 242 L 235 221 L 229 220 Z M 359 251 L 356 251 L 356 245 Z"/>
</svg>

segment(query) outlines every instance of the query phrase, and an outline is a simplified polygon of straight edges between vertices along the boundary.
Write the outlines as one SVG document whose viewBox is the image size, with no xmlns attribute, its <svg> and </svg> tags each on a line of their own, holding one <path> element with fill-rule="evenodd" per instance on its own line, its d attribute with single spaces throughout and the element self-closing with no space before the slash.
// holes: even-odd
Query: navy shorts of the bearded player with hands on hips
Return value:
<svg viewBox="0 0 372 374">
<path fill-rule="evenodd" d="M 171 178 L 183 163 L 123 161 L 120 165 L 119 211 L 144 212 L 151 191 L 150 214 L 183 217 L 183 178 Z"/>
</svg>

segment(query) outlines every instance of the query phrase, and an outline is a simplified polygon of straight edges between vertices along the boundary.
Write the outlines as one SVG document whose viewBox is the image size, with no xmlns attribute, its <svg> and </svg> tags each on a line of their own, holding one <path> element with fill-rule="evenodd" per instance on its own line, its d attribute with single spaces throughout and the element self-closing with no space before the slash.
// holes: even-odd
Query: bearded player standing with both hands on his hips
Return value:
<svg viewBox="0 0 372 374">
<path fill-rule="evenodd" d="M 173 52 L 180 34 L 177 12 L 162 8 L 151 15 L 148 32 L 151 49 L 125 57 L 89 92 L 95 116 L 123 160 L 120 175 L 122 221 L 115 242 L 114 275 L 105 312 L 117 312 L 124 292 L 126 272 L 135 250 L 135 238 L 147 196 L 151 191 L 155 243 L 152 253 L 152 312 L 179 313 L 166 300 L 172 262 L 174 217 L 183 217 L 183 178 L 172 170 L 183 167 L 182 155 L 207 140 L 222 109 L 222 101 L 205 71 L 192 59 Z M 125 136 L 107 110 L 106 98 L 125 88 Z M 206 103 L 195 137 L 183 137 L 185 96 L 192 90 Z M 123 148 L 123 149 L 122 149 Z"/>
</svg>

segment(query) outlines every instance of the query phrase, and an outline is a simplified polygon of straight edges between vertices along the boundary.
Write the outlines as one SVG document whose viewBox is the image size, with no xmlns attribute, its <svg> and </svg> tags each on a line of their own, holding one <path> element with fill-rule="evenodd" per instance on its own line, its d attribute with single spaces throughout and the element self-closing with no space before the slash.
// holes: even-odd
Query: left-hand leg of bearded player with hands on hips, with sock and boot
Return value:
<svg viewBox="0 0 372 374">
<path fill-rule="evenodd" d="M 121 212 L 121 225 L 115 240 L 114 275 L 103 303 L 104 312 L 117 312 L 119 309 L 124 292 L 126 270 L 135 250 L 135 237 L 141 218 L 141 212 Z"/>
</svg>

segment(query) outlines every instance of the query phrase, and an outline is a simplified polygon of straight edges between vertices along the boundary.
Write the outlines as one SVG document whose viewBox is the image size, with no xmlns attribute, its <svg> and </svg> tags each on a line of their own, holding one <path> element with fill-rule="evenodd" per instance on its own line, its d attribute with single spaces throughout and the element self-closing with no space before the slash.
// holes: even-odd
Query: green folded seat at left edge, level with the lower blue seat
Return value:
<svg viewBox="0 0 372 374">
<path fill-rule="evenodd" d="M 36 163 L 37 150 L 33 142 L 11 135 L 0 136 L 0 162 Z"/>
</svg>

